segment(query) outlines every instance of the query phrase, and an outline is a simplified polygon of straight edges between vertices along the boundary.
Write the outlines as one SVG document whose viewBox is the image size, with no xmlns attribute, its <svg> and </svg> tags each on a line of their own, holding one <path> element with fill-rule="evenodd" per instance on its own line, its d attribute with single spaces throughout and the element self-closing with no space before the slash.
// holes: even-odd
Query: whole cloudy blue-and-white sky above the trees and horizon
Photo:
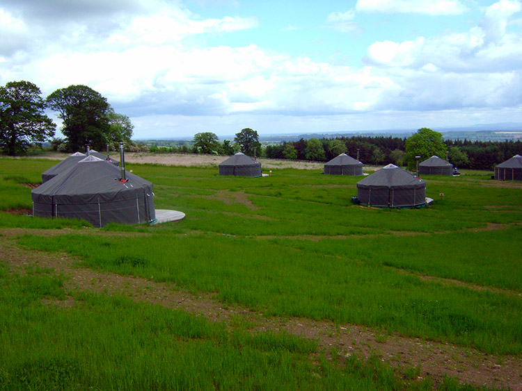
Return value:
<svg viewBox="0 0 522 391">
<path fill-rule="evenodd" d="M 522 0 L 2 0 L 21 80 L 88 85 L 135 140 L 522 123 Z"/>
</svg>

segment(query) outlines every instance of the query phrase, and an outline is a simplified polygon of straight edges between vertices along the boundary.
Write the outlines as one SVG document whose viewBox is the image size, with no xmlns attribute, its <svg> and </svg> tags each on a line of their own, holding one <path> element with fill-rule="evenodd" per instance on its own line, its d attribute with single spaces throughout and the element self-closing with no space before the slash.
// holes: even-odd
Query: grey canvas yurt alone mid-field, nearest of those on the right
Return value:
<svg viewBox="0 0 522 391">
<path fill-rule="evenodd" d="M 426 203 L 426 182 L 396 165 L 387 165 L 358 181 L 357 198 L 368 206 L 422 206 Z"/>
</svg>

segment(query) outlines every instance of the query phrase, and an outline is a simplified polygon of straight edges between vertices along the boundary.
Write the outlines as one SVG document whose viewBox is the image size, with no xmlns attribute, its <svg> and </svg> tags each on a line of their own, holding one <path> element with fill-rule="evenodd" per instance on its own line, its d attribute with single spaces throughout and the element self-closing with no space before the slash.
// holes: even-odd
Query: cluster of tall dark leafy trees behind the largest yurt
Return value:
<svg viewBox="0 0 522 391">
<path fill-rule="evenodd" d="M 83 151 L 86 145 L 104 149 L 106 144 L 129 141 L 134 126 L 126 115 L 116 113 L 106 98 L 86 85 L 70 85 L 47 99 L 29 81 L 11 81 L 0 86 L 0 149 L 15 156 L 30 144 L 51 139 L 56 124 L 45 110 L 50 108 L 62 120 L 65 140 L 54 139 L 63 151 Z"/>
</svg>

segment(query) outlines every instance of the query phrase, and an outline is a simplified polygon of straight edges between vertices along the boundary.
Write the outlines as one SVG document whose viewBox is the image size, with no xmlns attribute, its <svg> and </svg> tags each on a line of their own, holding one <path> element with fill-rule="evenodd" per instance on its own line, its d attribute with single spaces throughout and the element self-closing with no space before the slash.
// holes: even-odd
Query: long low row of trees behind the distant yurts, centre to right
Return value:
<svg viewBox="0 0 522 391">
<path fill-rule="evenodd" d="M 248 135 L 248 137 L 246 137 Z M 245 141 L 246 140 L 246 141 Z M 253 146 L 255 145 L 255 149 Z M 264 156 L 274 159 L 329 161 L 340 153 L 359 157 L 363 163 L 383 165 L 393 163 L 416 167 L 416 156 L 422 160 L 434 155 L 448 159 L 455 167 L 465 169 L 493 169 L 498 163 L 522 151 L 521 141 L 470 142 L 467 140 L 443 140 L 442 134 L 430 128 L 421 128 L 410 138 L 393 137 L 339 137 L 335 139 L 301 140 L 270 144 L 261 148 L 258 133 L 251 128 L 236 134 L 235 144 L 230 140 L 219 142 L 214 133 L 197 133 L 193 139 L 193 149 L 186 145 L 171 151 L 193 153 L 219 153 L 232 155 L 242 151 L 249 156 Z"/>
</svg>

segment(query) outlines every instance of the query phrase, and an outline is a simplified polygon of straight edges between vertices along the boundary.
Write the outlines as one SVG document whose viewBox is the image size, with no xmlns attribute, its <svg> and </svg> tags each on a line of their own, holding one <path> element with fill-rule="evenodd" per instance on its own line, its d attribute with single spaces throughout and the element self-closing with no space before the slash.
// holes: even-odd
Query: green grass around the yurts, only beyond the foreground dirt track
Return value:
<svg viewBox="0 0 522 391">
<path fill-rule="evenodd" d="M 0 159 L 0 167 L 13 172 L 13 160 Z M 17 183 L 37 182 L 47 168 L 34 160 L 15 167 L 18 178 L 0 175 L 0 208 L 29 208 L 29 189 Z M 102 236 L 28 235 L 20 244 L 65 250 L 90 267 L 217 292 L 222 301 L 275 315 L 380 326 L 488 352 L 522 351 L 519 294 L 422 278 L 521 292 L 520 185 L 485 174 L 435 176 L 426 178 L 428 197 L 445 197 L 431 208 L 380 210 L 349 203 L 360 178 L 292 169 L 270 178 L 228 178 L 216 169 L 132 168 L 155 183 L 157 208 L 182 210 L 186 219 L 113 225 Z M 488 224 L 505 225 L 485 231 Z M 80 225 L 2 214 L 0 226 Z M 123 253 L 111 231 L 129 229 L 152 235 L 129 241 Z"/>
</svg>

